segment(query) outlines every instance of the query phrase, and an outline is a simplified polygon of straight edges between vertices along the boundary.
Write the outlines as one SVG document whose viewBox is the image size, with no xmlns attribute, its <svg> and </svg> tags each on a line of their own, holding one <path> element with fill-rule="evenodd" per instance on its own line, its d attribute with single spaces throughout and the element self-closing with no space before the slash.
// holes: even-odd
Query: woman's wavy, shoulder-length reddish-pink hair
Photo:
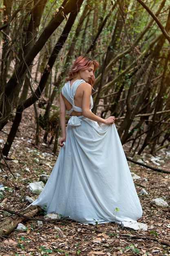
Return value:
<svg viewBox="0 0 170 256">
<path fill-rule="evenodd" d="M 94 65 L 94 72 L 93 72 L 93 76 L 90 79 L 90 84 L 93 86 L 93 83 L 95 81 L 95 70 L 99 67 L 99 63 L 92 59 L 92 58 L 88 58 L 87 56 L 79 56 L 78 58 L 75 59 L 75 62 L 73 63 L 72 67 L 71 67 L 71 71 L 69 73 L 69 76 L 66 78 L 66 81 L 69 81 L 71 79 L 74 79 L 76 74 L 80 71 L 80 70 L 86 70 L 88 69 L 88 67 L 93 64 Z"/>
</svg>

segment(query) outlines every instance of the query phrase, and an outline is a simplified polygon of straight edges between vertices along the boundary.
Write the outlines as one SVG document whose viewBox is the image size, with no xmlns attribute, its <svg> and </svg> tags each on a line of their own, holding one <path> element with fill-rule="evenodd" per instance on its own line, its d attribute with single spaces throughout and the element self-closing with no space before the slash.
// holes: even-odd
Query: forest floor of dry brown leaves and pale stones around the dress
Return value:
<svg viewBox="0 0 170 256">
<path fill-rule="evenodd" d="M 38 181 L 41 174 L 50 174 L 57 159 L 57 154 L 52 154 L 52 146 L 42 140 L 43 130 L 40 142 L 35 146 L 33 115 L 29 111 L 24 112 L 22 124 L 8 155 L 7 163 L 16 179 L 7 167 L 1 165 L 0 184 L 3 184 L 5 190 L 0 191 L 0 222 L 9 218 L 4 214 L 3 207 L 17 212 L 23 211 L 29 205 L 24 200 L 25 196 L 37 198 L 27 185 Z M 10 127 L 9 122 L 3 130 L 3 138 L 0 138 L 2 145 Z M 124 150 L 130 157 L 127 144 L 124 145 Z M 157 164 L 150 161 L 147 151 L 144 153 L 147 164 L 157 168 Z M 159 168 L 170 171 L 168 149 L 158 153 Z M 121 229 L 116 223 L 84 225 L 63 220 L 38 225 L 37 220 L 25 220 L 23 224 L 26 231 L 14 229 L 9 236 L 0 238 L 0 256 L 170 255 L 170 209 L 159 208 L 150 203 L 152 199 L 162 198 L 170 205 L 170 174 L 153 171 L 129 161 L 128 164 L 130 171 L 141 177 L 140 180 L 134 180 L 134 183 L 143 208 L 143 216 L 139 222 L 148 225 L 147 231 Z M 143 188 L 148 195 L 140 193 Z M 44 216 L 41 214 L 33 218 Z"/>
</svg>

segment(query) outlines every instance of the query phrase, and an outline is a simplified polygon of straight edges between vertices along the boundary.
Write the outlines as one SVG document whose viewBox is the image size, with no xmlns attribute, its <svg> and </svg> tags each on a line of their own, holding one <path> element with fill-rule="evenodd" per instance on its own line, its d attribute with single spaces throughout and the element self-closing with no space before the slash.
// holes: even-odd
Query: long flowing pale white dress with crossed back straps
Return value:
<svg viewBox="0 0 170 256">
<path fill-rule="evenodd" d="M 62 88 L 73 106 L 69 114 L 82 111 L 75 106 L 74 95 L 83 82 L 77 80 L 70 87 L 68 81 Z M 137 222 L 141 204 L 115 124 L 99 126 L 84 116 L 70 116 L 66 142 L 32 205 L 81 223 Z"/>
</svg>

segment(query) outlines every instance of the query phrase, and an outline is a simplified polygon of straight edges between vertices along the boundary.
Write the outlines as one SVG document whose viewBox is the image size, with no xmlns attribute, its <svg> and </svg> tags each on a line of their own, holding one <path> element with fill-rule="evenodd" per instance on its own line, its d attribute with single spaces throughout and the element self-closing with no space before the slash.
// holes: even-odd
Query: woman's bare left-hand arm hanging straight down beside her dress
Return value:
<svg viewBox="0 0 170 256">
<path fill-rule="evenodd" d="M 59 144 L 62 147 L 63 142 L 66 141 L 66 105 L 62 94 L 60 93 L 60 125 L 62 129 L 62 137 L 59 139 Z"/>
</svg>

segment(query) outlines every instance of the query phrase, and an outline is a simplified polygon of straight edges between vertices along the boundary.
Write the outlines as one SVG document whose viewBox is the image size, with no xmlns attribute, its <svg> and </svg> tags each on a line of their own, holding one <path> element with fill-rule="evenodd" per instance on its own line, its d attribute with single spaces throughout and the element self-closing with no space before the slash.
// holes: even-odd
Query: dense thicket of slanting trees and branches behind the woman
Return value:
<svg viewBox="0 0 170 256">
<path fill-rule="evenodd" d="M 34 105 L 44 140 L 60 132 L 58 94 L 75 56 L 96 58 L 97 115 L 116 116 L 131 153 L 170 141 L 170 7 L 167 0 L 1 2 L 0 130 L 14 117 L 8 155 L 25 108 Z M 41 108 L 41 112 L 40 112 Z M 41 115 L 40 115 L 41 113 Z"/>
</svg>

